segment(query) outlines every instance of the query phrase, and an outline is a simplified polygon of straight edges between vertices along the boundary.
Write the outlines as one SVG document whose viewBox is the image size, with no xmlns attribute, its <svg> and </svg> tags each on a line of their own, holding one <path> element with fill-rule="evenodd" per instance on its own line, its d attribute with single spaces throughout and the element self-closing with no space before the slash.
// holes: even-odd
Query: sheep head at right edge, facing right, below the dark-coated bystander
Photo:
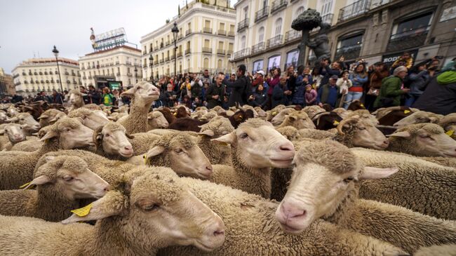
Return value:
<svg viewBox="0 0 456 256">
<path fill-rule="evenodd" d="M 456 141 L 435 123 L 418 123 L 391 133 L 387 150 L 414 156 L 456 157 Z"/>
</svg>

